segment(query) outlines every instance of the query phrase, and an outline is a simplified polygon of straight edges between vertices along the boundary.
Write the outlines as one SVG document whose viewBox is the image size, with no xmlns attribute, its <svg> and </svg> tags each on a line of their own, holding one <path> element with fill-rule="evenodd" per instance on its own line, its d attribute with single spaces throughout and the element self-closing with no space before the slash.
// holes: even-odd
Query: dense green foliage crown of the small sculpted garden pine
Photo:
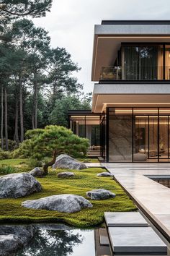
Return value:
<svg viewBox="0 0 170 256">
<path fill-rule="evenodd" d="M 70 129 L 49 125 L 45 129 L 34 129 L 26 132 L 28 138 L 12 153 L 14 158 L 51 157 L 53 150 L 57 154 L 67 153 L 73 157 L 84 157 L 89 148 L 89 140 L 74 135 Z"/>
</svg>

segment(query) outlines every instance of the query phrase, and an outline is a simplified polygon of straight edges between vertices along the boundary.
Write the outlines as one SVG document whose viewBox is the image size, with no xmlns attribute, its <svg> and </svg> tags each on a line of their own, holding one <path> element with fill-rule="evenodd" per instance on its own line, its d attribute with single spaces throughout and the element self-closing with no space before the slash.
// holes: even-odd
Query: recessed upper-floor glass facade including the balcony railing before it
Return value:
<svg viewBox="0 0 170 256">
<path fill-rule="evenodd" d="M 170 79 L 170 45 L 166 43 L 122 43 L 118 52 L 121 52 L 121 56 L 117 57 L 115 64 L 102 67 L 100 80 Z"/>
</svg>

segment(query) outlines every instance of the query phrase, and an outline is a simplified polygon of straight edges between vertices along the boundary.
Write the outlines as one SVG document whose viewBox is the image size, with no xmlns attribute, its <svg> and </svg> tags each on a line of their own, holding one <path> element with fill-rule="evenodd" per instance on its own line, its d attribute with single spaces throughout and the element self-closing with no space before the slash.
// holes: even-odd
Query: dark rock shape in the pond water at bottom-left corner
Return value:
<svg viewBox="0 0 170 256">
<path fill-rule="evenodd" d="M 16 255 L 34 236 L 32 226 L 0 226 L 0 255 Z"/>
</svg>

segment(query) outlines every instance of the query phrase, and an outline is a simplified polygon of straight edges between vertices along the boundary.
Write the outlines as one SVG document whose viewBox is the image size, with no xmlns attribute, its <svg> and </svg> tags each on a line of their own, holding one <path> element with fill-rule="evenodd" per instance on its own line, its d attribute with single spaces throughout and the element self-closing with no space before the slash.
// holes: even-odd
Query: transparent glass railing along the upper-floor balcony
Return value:
<svg viewBox="0 0 170 256">
<path fill-rule="evenodd" d="M 104 80 L 170 80 L 170 66 L 102 67 L 100 81 Z"/>
</svg>

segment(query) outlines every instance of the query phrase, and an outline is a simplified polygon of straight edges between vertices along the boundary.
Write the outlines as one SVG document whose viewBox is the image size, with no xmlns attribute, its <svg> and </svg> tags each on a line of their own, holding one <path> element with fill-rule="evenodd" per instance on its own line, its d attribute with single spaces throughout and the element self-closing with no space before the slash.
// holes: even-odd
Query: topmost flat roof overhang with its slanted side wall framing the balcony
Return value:
<svg viewBox="0 0 170 256">
<path fill-rule="evenodd" d="M 170 22 L 105 22 L 94 27 L 91 80 L 99 81 L 102 67 L 112 66 L 121 43 L 169 43 Z"/>
</svg>

